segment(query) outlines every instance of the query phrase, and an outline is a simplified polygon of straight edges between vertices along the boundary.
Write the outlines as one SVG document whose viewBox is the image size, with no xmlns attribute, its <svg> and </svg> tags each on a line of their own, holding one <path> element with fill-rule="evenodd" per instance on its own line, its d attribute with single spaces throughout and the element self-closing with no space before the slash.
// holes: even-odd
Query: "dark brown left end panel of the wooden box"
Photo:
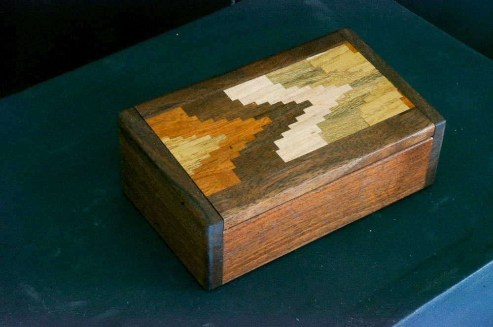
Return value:
<svg viewBox="0 0 493 327">
<path fill-rule="evenodd" d="M 124 192 L 206 289 L 219 286 L 222 218 L 135 109 L 118 123 Z"/>
</svg>

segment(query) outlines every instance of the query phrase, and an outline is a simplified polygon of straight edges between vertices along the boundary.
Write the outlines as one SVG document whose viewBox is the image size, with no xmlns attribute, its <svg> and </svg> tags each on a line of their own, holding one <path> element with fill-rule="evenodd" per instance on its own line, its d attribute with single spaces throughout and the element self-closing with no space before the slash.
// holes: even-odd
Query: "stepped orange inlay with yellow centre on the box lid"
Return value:
<svg viewBox="0 0 493 327">
<path fill-rule="evenodd" d="M 264 117 L 200 121 L 176 107 L 146 122 L 201 191 L 209 196 L 241 181 L 233 172 L 235 165 L 231 159 L 239 156 L 246 143 L 271 120 Z"/>
</svg>

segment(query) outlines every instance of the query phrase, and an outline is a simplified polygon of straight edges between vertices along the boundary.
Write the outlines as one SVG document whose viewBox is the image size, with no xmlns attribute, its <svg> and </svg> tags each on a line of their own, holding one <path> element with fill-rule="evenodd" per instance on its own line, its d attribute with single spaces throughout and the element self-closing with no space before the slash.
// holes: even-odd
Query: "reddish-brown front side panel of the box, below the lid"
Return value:
<svg viewBox="0 0 493 327">
<path fill-rule="evenodd" d="M 225 230 L 223 283 L 422 189 L 431 146 L 428 138 Z"/>
</svg>

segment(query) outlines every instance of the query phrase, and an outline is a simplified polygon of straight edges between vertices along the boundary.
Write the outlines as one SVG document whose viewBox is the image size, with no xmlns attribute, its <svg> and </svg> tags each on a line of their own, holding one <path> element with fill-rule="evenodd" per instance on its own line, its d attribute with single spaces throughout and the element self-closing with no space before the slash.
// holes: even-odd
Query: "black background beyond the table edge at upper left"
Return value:
<svg viewBox="0 0 493 327">
<path fill-rule="evenodd" d="M 230 4 L 231 0 L 1 0 L 0 97 Z"/>
</svg>

